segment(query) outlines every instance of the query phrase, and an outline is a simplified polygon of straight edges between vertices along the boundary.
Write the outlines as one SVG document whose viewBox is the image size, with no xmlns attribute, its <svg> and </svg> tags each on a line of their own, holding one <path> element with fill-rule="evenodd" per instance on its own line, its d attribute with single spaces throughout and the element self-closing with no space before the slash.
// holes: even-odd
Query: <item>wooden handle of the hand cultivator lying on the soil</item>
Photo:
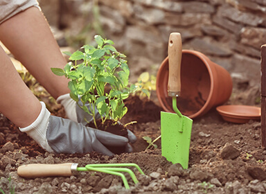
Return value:
<svg viewBox="0 0 266 194">
<path fill-rule="evenodd" d="M 37 177 L 70 177 L 72 175 L 71 166 L 66 164 L 26 164 L 17 168 L 17 174 L 25 178 Z"/>
</svg>

